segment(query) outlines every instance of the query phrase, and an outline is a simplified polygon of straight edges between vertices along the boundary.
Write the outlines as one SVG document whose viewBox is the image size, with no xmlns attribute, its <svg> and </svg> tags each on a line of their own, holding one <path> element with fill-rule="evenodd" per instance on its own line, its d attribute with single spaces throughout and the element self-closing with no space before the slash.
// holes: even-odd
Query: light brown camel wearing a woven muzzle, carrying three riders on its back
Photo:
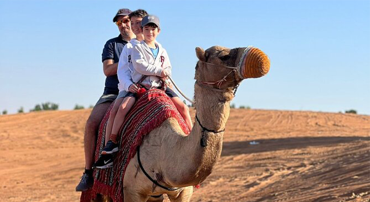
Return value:
<svg viewBox="0 0 370 202">
<path fill-rule="evenodd" d="M 167 194 L 174 202 L 189 202 L 193 187 L 212 172 L 221 155 L 230 102 L 245 78 L 261 77 L 269 71 L 270 60 L 255 47 L 196 47 L 199 59 L 195 72 L 196 121 L 185 135 L 174 118 L 146 135 L 131 159 L 124 177 L 124 202 L 162 201 Z M 164 187 L 164 188 L 162 188 Z M 167 188 L 167 189 L 165 189 Z"/>
</svg>

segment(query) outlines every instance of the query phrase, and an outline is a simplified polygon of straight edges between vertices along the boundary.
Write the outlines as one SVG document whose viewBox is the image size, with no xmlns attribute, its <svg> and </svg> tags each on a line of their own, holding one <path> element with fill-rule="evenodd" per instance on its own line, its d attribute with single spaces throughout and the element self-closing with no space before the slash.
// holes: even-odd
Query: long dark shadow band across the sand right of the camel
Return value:
<svg viewBox="0 0 370 202">
<path fill-rule="evenodd" d="M 279 139 L 256 139 L 259 144 L 249 144 L 250 141 L 224 142 L 221 156 L 261 153 L 285 149 L 305 148 L 309 146 L 335 146 L 353 141 L 370 141 L 370 137 L 290 137 Z M 366 146 L 369 146 L 367 143 Z"/>
</svg>

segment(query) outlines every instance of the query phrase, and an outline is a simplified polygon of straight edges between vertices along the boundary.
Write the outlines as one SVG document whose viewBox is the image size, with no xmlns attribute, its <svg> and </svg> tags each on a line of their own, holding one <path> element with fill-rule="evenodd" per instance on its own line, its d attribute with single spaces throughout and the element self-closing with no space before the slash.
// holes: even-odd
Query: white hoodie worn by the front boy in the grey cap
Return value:
<svg viewBox="0 0 370 202">
<path fill-rule="evenodd" d="M 147 75 L 141 82 L 141 85 L 148 89 L 161 86 L 159 77 L 164 69 L 167 69 L 169 76 L 171 76 L 171 63 L 167 52 L 160 43 L 157 41 L 155 43 L 159 48 L 156 59 L 144 40 L 132 48 L 132 63 L 134 67 L 131 72 L 132 81 L 136 83 L 144 75 Z"/>
</svg>

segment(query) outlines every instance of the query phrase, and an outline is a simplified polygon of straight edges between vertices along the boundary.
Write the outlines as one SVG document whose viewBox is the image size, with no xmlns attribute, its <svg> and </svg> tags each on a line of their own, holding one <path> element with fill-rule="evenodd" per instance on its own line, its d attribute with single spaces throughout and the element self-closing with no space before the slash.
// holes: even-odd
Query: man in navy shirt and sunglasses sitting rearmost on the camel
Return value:
<svg viewBox="0 0 370 202">
<path fill-rule="evenodd" d="M 120 35 L 116 38 L 109 39 L 103 48 L 102 62 L 103 72 L 106 76 L 105 87 L 103 95 L 99 98 L 86 122 L 84 137 L 85 172 L 81 177 L 80 183 L 76 187 L 76 191 L 85 191 L 94 184 L 93 170 L 91 167 L 94 163 L 97 131 L 105 112 L 116 99 L 119 92 L 117 67 L 122 49 L 131 38 L 135 37 L 131 31 L 128 17 L 130 13 L 131 11 L 129 9 L 120 9 L 117 12 L 116 16 L 113 18 L 113 22 L 117 24 Z"/>
</svg>

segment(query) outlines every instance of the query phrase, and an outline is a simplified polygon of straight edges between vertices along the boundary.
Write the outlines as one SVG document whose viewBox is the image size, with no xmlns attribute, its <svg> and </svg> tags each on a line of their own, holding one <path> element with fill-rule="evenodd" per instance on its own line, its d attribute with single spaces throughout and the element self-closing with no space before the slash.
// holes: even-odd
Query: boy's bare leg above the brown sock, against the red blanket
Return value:
<svg viewBox="0 0 370 202">
<path fill-rule="evenodd" d="M 110 136 L 110 140 L 112 140 L 114 143 L 117 143 L 117 134 L 120 132 L 126 114 L 128 113 L 128 111 L 130 111 L 134 104 L 135 97 L 127 96 L 123 99 L 122 104 L 119 106 L 112 127 L 112 135 Z"/>
</svg>

